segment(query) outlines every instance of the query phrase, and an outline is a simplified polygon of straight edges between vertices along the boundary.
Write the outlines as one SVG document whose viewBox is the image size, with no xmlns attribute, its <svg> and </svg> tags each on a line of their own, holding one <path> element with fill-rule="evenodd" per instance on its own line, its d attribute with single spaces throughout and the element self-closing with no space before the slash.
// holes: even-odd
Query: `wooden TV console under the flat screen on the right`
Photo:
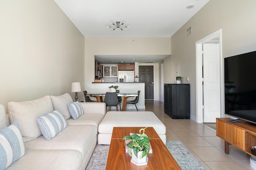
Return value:
<svg viewBox="0 0 256 170">
<path fill-rule="evenodd" d="M 256 126 L 241 120 L 234 123 L 228 121 L 231 118 L 216 118 L 216 135 L 225 141 L 225 153 L 229 154 L 229 145 L 250 154 L 253 146 L 256 146 Z"/>
</svg>

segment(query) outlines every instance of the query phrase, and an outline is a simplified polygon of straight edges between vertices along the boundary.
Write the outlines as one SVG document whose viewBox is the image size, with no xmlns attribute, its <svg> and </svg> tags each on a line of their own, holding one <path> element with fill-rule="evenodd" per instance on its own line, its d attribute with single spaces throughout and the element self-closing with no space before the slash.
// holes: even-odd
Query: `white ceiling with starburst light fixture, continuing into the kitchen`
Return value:
<svg viewBox="0 0 256 170">
<path fill-rule="evenodd" d="M 84 37 L 171 37 L 209 0 L 54 1 Z M 186 8 L 190 5 L 194 5 L 194 8 Z M 123 28 L 123 31 L 107 28 L 116 21 L 130 27 Z M 129 60 L 136 58 L 143 63 L 152 60 L 151 57 L 156 60 L 157 56 L 130 56 Z"/>
</svg>

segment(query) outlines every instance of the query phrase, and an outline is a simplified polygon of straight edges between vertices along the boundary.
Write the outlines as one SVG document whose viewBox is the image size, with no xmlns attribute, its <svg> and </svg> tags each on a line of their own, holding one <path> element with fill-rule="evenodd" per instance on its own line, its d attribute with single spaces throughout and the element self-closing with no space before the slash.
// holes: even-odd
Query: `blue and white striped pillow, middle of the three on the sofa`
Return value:
<svg viewBox="0 0 256 170">
<path fill-rule="evenodd" d="M 68 126 L 66 119 L 59 109 L 54 110 L 52 113 L 37 117 L 36 121 L 41 133 L 48 141 L 52 140 L 52 138 Z"/>
</svg>

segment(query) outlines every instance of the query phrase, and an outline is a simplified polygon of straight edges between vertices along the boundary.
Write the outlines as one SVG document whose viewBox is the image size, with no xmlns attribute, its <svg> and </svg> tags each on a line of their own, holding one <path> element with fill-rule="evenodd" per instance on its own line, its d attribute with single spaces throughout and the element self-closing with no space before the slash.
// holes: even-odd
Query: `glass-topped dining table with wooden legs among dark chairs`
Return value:
<svg viewBox="0 0 256 170">
<path fill-rule="evenodd" d="M 116 93 L 117 96 L 123 97 L 123 106 L 122 111 L 125 111 L 127 98 L 138 96 L 138 92 L 119 92 Z M 103 102 L 102 96 L 105 96 L 106 92 L 87 92 L 87 96 L 95 97 L 97 99 L 97 102 Z"/>
</svg>

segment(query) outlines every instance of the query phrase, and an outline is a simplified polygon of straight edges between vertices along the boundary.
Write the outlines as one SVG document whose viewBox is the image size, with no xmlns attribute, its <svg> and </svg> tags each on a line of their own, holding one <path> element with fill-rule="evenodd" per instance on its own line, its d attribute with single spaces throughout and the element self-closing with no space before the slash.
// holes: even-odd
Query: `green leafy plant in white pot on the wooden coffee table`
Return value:
<svg viewBox="0 0 256 170">
<path fill-rule="evenodd" d="M 147 154 L 150 151 L 150 137 L 145 134 L 146 128 L 140 129 L 140 133 L 143 131 L 141 135 L 134 133 L 123 138 L 124 146 L 128 147 L 127 152 L 132 156 L 131 162 L 139 166 L 148 164 Z M 128 143 L 126 143 L 126 140 L 128 140 Z"/>
</svg>

